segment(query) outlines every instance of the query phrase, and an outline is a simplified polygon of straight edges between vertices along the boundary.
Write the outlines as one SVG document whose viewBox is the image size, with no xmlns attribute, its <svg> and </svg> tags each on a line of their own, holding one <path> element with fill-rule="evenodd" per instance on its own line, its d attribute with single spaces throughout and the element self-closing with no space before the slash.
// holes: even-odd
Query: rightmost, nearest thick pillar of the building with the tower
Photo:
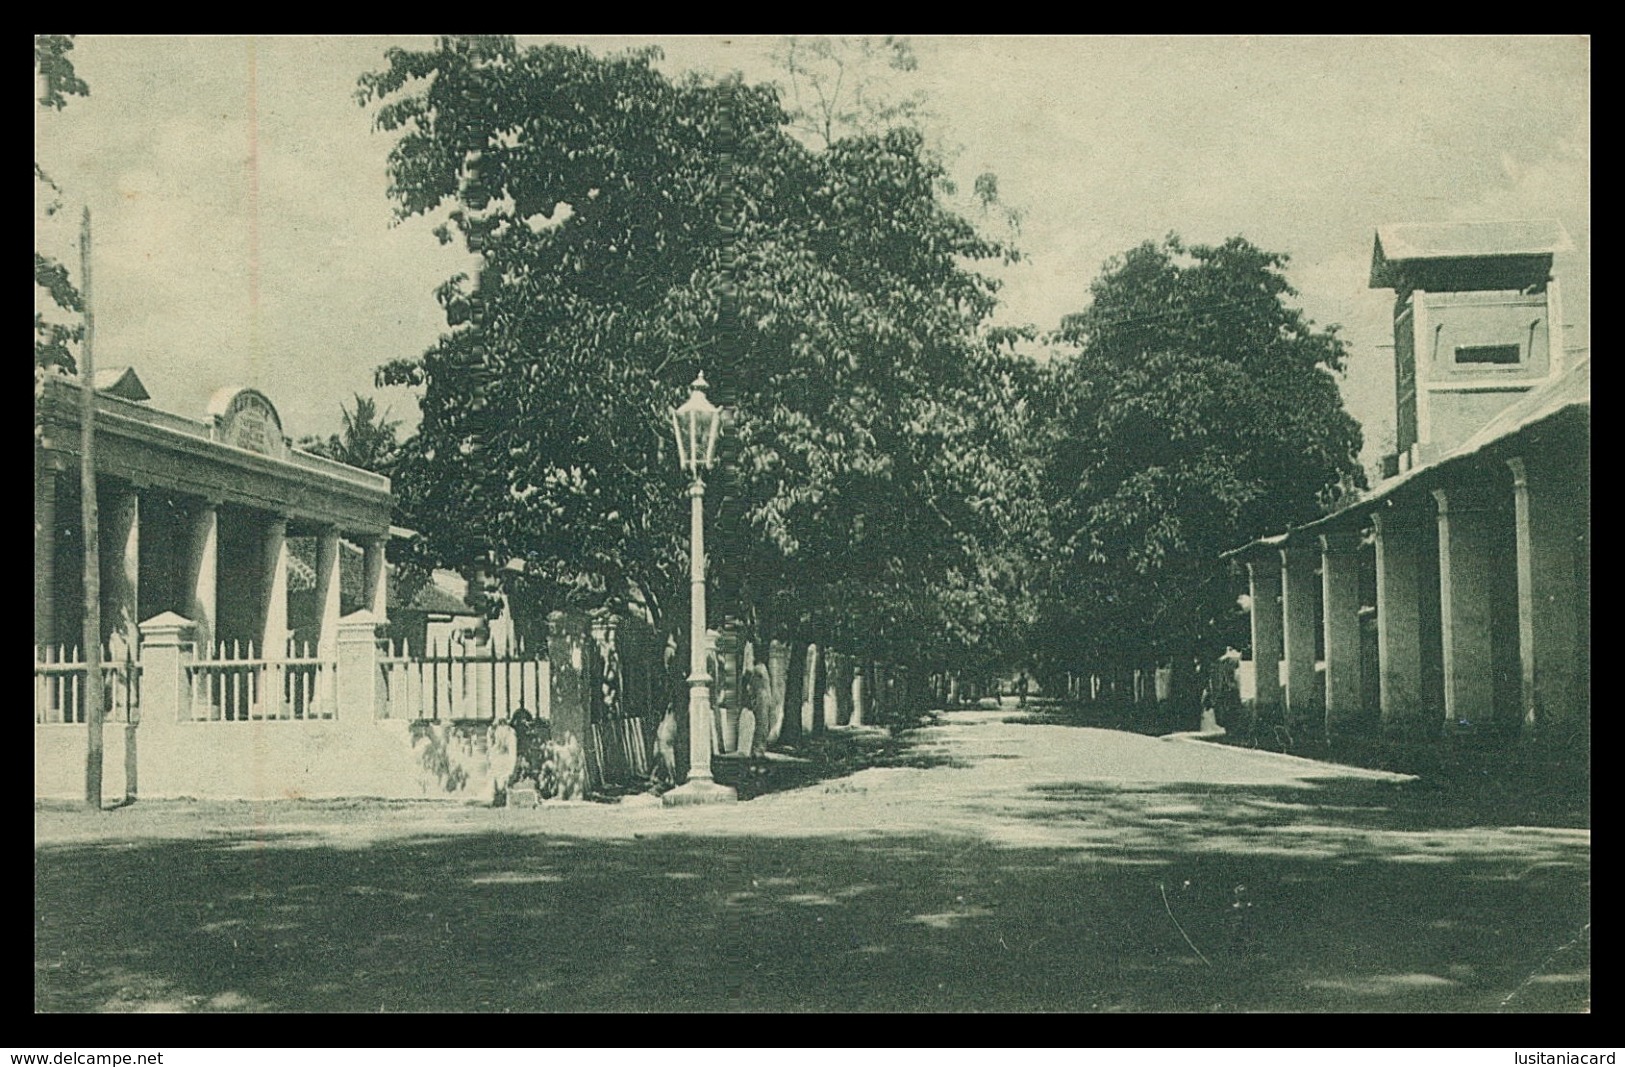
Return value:
<svg viewBox="0 0 1625 1067">
<path fill-rule="evenodd" d="M 1524 731 L 1544 732 L 1580 713 L 1576 552 L 1589 489 L 1526 456 L 1508 466 L 1518 538 L 1519 703 Z"/>
</svg>

